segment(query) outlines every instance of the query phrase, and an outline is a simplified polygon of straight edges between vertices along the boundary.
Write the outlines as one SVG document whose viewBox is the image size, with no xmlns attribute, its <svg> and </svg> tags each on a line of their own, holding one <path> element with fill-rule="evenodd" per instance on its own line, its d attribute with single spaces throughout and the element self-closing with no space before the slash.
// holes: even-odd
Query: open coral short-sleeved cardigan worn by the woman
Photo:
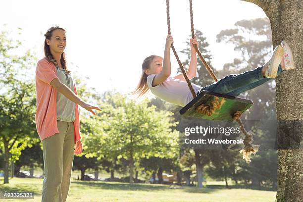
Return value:
<svg viewBox="0 0 303 202">
<path fill-rule="evenodd" d="M 35 115 L 36 128 L 41 142 L 55 133 L 59 133 L 57 127 L 57 91 L 50 85 L 50 82 L 58 78 L 56 68 L 52 62 L 43 58 L 38 61 L 36 67 L 36 92 L 37 111 Z M 76 85 L 74 84 L 77 95 Z M 76 119 L 74 123 L 74 144 L 81 139 L 79 109 L 76 103 Z"/>
</svg>

